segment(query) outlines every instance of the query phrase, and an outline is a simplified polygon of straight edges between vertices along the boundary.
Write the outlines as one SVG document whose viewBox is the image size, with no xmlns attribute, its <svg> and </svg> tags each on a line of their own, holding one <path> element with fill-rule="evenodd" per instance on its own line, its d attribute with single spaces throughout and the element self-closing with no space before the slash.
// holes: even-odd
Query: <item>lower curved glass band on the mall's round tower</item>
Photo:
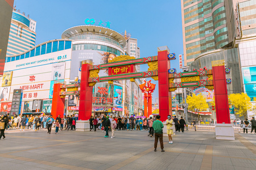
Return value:
<svg viewBox="0 0 256 170">
<path fill-rule="evenodd" d="M 97 45 L 97 44 L 74 44 L 72 46 L 72 50 L 98 50 L 102 52 L 113 53 L 117 56 L 123 55 L 122 52 L 110 46 Z"/>
</svg>

